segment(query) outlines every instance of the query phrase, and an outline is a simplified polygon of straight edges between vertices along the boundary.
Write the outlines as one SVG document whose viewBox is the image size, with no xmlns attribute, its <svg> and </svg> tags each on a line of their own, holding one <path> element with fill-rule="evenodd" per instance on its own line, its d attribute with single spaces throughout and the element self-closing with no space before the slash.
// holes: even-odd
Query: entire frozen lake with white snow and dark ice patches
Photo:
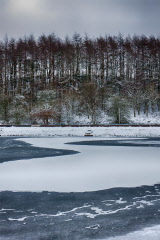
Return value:
<svg viewBox="0 0 160 240">
<path fill-rule="evenodd" d="M 160 139 L 0 138 L 0 240 L 159 240 Z"/>
</svg>

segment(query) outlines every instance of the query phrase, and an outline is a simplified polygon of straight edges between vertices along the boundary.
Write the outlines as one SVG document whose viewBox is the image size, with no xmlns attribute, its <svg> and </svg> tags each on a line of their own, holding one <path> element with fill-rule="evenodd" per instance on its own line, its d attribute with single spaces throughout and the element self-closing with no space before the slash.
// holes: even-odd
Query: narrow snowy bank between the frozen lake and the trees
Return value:
<svg viewBox="0 0 160 240">
<path fill-rule="evenodd" d="M 1 136 L 83 137 L 160 137 L 160 127 L 0 127 Z"/>
</svg>

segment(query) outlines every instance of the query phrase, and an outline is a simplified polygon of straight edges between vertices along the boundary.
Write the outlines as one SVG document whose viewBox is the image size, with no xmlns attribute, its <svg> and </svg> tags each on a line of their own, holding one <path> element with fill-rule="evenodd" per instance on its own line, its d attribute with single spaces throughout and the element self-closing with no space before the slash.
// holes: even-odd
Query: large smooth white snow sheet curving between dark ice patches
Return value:
<svg viewBox="0 0 160 240">
<path fill-rule="evenodd" d="M 160 182 L 160 148 L 65 144 L 89 141 L 90 137 L 21 140 L 38 147 L 68 149 L 80 153 L 2 163 L 0 191 L 84 192 Z"/>
</svg>

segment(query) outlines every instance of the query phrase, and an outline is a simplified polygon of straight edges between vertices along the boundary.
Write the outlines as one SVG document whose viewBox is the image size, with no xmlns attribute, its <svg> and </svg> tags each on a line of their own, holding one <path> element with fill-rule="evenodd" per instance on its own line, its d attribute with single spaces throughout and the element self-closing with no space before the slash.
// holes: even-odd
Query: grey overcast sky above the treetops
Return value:
<svg viewBox="0 0 160 240">
<path fill-rule="evenodd" d="M 0 39 L 75 32 L 160 35 L 160 0 L 0 0 Z"/>
</svg>

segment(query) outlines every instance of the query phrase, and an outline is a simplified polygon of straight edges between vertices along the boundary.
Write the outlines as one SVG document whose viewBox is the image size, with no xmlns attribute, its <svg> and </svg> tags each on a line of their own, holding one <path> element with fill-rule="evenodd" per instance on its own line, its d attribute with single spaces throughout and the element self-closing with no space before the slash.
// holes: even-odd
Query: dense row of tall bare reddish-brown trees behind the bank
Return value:
<svg viewBox="0 0 160 240">
<path fill-rule="evenodd" d="M 93 123 L 98 110 L 113 112 L 113 102 L 130 104 L 134 115 L 160 111 L 160 37 L 6 37 L 0 42 L 0 98 L 7 122 L 8 109 L 20 98 L 30 115 L 38 106 L 59 123 L 68 101 L 70 115 L 86 113 Z"/>
</svg>

